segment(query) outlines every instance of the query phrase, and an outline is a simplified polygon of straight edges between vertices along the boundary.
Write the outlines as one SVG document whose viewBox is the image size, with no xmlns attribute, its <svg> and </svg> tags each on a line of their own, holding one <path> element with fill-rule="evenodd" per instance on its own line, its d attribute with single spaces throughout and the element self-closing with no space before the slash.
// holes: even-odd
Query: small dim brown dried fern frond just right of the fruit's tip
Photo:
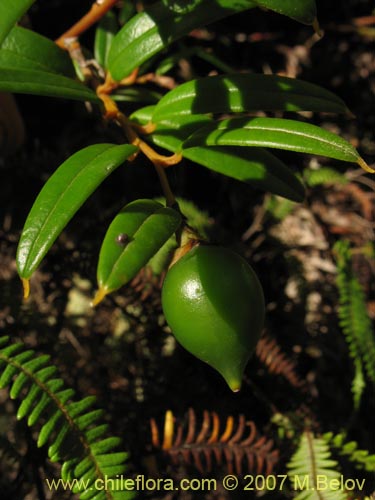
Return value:
<svg viewBox="0 0 375 500">
<path fill-rule="evenodd" d="M 282 375 L 293 387 L 306 390 L 305 381 L 301 380 L 296 373 L 296 363 L 281 351 L 275 339 L 268 335 L 261 337 L 255 353 L 269 373 Z"/>
</svg>

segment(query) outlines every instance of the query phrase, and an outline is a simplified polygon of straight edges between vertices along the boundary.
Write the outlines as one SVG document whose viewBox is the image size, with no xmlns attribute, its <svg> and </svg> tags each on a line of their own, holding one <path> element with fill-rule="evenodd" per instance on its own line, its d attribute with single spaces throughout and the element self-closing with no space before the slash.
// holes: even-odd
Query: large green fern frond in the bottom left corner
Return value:
<svg viewBox="0 0 375 500">
<path fill-rule="evenodd" d="M 108 479 L 126 472 L 127 454 L 116 451 L 121 440 L 103 437 L 107 426 L 101 423 L 104 412 L 92 409 L 95 398 L 72 401 L 74 391 L 64 388 L 49 361 L 49 356 L 36 356 L 23 344 L 0 337 L 0 388 L 10 386 L 10 397 L 22 400 L 18 419 L 27 418 L 29 426 L 42 423 L 37 444 L 49 444 L 48 456 L 62 464 L 63 480 L 77 480 L 73 493 L 82 500 L 115 498 L 115 489 L 100 488 L 116 484 Z M 131 492 L 121 492 L 123 499 L 132 497 Z"/>
</svg>

